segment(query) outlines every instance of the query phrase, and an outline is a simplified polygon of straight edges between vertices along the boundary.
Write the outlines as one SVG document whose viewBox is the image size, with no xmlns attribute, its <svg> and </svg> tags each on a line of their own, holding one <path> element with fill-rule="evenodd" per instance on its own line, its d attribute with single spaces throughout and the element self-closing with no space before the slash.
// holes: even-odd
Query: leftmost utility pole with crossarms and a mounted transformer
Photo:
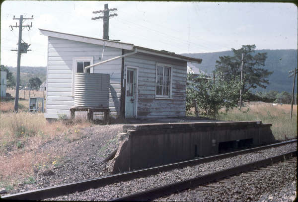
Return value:
<svg viewBox="0 0 298 202">
<path fill-rule="evenodd" d="M 16 67 L 16 82 L 15 82 L 15 98 L 14 98 L 14 112 L 17 112 L 18 110 L 18 99 L 19 99 L 19 86 L 20 86 L 20 67 L 21 67 L 21 54 L 22 53 L 27 53 L 27 51 L 31 51 L 28 50 L 29 46 L 27 43 L 22 43 L 22 28 L 23 27 L 28 27 L 28 29 L 30 30 L 32 27 L 32 22 L 31 22 L 31 26 L 28 25 L 24 25 L 23 26 L 23 20 L 32 20 L 33 19 L 33 15 L 31 18 L 23 18 L 23 15 L 20 16 L 20 18 L 15 18 L 13 16 L 14 20 L 19 20 L 19 25 L 17 25 L 17 23 L 15 23 L 14 26 L 10 25 L 11 31 L 13 30 L 13 27 L 18 27 L 19 28 L 19 37 L 18 37 L 18 46 L 17 46 L 17 50 L 11 50 L 11 51 L 17 51 L 17 67 Z"/>
</svg>

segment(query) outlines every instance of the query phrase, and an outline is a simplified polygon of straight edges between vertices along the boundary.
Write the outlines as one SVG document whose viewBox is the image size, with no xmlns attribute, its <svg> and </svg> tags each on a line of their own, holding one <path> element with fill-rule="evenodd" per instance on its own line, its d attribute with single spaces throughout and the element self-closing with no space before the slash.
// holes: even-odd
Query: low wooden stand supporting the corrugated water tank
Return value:
<svg viewBox="0 0 298 202">
<path fill-rule="evenodd" d="M 110 122 L 110 109 L 108 108 L 92 108 L 92 107 L 73 107 L 70 109 L 71 110 L 71 118 L 74 119 L 74 113 L 75 112 L 87 112 L 87 118 L 88 120 L 93 121 L 93 113 L 94 112 L 103 112 L 103 122 L 105 124 L 109 124 Z"/>
</svg>

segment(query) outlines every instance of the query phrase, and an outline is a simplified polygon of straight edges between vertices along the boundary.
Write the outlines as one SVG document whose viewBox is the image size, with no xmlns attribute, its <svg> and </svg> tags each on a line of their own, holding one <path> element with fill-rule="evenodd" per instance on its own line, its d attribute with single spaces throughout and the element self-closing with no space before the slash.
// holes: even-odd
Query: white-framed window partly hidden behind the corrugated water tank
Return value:
<svg viewBox="0 0 298 202">
<path fill-rule="evenodd" d="M 73 87 L 72 96 L 74 96 L 74 75 L 83 73 L 84 68 L 93 65 L 93 57 L 73 58 Z M 93 67 L 87 69 L 87 73 L 93 73 Z"/>
</svg>

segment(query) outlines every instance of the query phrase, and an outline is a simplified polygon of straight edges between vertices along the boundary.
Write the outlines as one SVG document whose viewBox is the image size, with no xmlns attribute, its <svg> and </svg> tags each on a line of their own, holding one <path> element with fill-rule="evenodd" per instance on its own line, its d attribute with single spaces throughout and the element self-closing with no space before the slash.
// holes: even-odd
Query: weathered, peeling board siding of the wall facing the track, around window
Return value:
<svg viewBox="0 0 298 202">
<path fill-rule="evenodd" d="M 136 54 L 124 60 L 126 66 L 139 67 L 138 118 L 185 116 L 186 62 Z M 155 98 L 156 63 L 171 65 L 172 99 Z"/>
</svg>

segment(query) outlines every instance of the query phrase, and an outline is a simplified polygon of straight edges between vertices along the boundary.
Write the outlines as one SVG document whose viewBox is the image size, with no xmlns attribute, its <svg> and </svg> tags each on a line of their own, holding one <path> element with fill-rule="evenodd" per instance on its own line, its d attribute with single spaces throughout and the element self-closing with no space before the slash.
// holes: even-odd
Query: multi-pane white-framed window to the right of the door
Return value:
<svg viewBox="0 0 298 202">
<path fill-rule="evenodd" d="M 155 97 L 171 97 L 171 67 L 168 65 L 156 65 Z"/>
</svg>

